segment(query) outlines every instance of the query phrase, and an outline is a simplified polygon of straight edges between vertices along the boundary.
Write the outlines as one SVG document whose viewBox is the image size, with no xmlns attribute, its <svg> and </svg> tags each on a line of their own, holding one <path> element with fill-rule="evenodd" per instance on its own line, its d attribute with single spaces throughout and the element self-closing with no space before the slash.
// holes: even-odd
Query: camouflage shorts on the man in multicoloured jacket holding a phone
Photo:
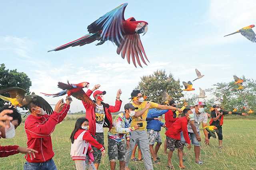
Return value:
<svg viewBox="0 0 256 170">
<path fill-rule="evenodd" d="M 126 141 L 117 142 L 108 138 L 108 160 L 112 162 L 125 161 Z"/>
</svg>

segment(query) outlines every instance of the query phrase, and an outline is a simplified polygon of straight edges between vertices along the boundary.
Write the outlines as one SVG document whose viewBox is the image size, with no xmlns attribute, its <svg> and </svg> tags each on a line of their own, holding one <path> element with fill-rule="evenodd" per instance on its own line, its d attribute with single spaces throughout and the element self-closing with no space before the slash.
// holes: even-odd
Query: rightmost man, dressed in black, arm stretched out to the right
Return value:
<svg viewBox="0 0 256 170">
<path fill-rule="evenodd" d="M 212 106 L 214 108 L 213 111 L 211 111 L 211 120 L 209 122 L 210 125 L 214 125 L 218 128 L 218 130 L 216 131 L 217 135 L 218 135 L 218 139 L 219 139 L 219 148 L 223 149 L 222 147 L 222 140 L 223 140 L 223 135 L 222 135 L 222 125 L 223 125 L 223 119 L 224 119 L 224 115 L 228 115 L 228 114 L 232 114 L 232 115 L 242 115 L 242 116 L 247 116 L 247 113 L 237 113 L 237 112 L 233 112 L 233 111 L 224 111 L 220 108 L 220 106 L 218 105 L 213 105 Z M 209 139 L 211 137 L 210 134 L 208 134 Z"/>
</svg>

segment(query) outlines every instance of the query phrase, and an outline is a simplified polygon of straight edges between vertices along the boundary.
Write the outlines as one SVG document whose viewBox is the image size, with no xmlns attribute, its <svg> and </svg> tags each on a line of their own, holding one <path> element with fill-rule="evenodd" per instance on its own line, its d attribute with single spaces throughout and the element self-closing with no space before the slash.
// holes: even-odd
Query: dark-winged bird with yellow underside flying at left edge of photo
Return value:
<svg viewBox="0 0 256 170">
<path fill-rule="evenodd" d="M 44 98 L 37 96 L 37 95 L 27 95 L 25 96 L 26 91 L 22 88 L 17 87 L 10 87 L 3 90 L 0 90 L 0 94 L 8 93 L 10 98 L 0 95 L 0 98 L 5 102 L 10 102 L 12 106 L 16 107 L 23 107 L 27 106 L 31 102 L 38 107 L 41 107 L 46 111 L 48 115 L 52 114 L 53 110 L 50 104 L 44 100 Z"/>
</svg>

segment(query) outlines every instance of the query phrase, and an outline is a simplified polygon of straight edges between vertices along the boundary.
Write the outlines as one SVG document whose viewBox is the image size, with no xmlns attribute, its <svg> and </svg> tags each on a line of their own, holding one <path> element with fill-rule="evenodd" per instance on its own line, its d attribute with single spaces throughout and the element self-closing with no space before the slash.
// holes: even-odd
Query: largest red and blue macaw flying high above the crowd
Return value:
<svg viewBox="0 0 256 170">
<path fill-rule="evenodd" d="M 83 37 L 50 51 L 59 51 L 78 45 L 82 46 L 90 44 L 96 40 L 100 41 L 96 45 L 102 45 L 105 41 L 109 40 L 117 45 L 116 53 L 118 55 L 121 53 L 123 59 L 126 55 L 126 59 L 129 64 L 131 57 L 132 63 L 135 67 L 137 67 L 136 61 L 138 65 L 142 67 L 140 59 L 144 64 L 146 64 L 144 57 L 147 61 L 148 58 L 140 41 L 139 34 L 145 34 L 148 31 L 148 23 L 146 21 L 136 21 L 133 17 L 125 20 L 124 10 L 127 5 L 128 3 L 118 6 L 114 10 L 106 13 L 104 16 L 91 23 L 87 27 L 89 33 Z"/>
</svg>

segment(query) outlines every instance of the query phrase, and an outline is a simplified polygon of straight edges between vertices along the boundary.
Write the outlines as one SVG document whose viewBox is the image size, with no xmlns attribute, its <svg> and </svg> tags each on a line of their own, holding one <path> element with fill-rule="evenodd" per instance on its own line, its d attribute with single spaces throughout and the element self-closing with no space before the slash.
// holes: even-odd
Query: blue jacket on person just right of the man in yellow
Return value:
<svg viewBox="0 0 256 170">
<path fill-rule="evenodd" d="M 158 117 L 165 114 L 167 111 L 168 110 L 149 109 L 147 118 Z M 147 129 L 153 129 L 154 131 L 161 131 L 161 126 L 164 125 L 164 123 L 159 120 L 150 120 L 147 121 L 147 123 Z"/>
</svg>

